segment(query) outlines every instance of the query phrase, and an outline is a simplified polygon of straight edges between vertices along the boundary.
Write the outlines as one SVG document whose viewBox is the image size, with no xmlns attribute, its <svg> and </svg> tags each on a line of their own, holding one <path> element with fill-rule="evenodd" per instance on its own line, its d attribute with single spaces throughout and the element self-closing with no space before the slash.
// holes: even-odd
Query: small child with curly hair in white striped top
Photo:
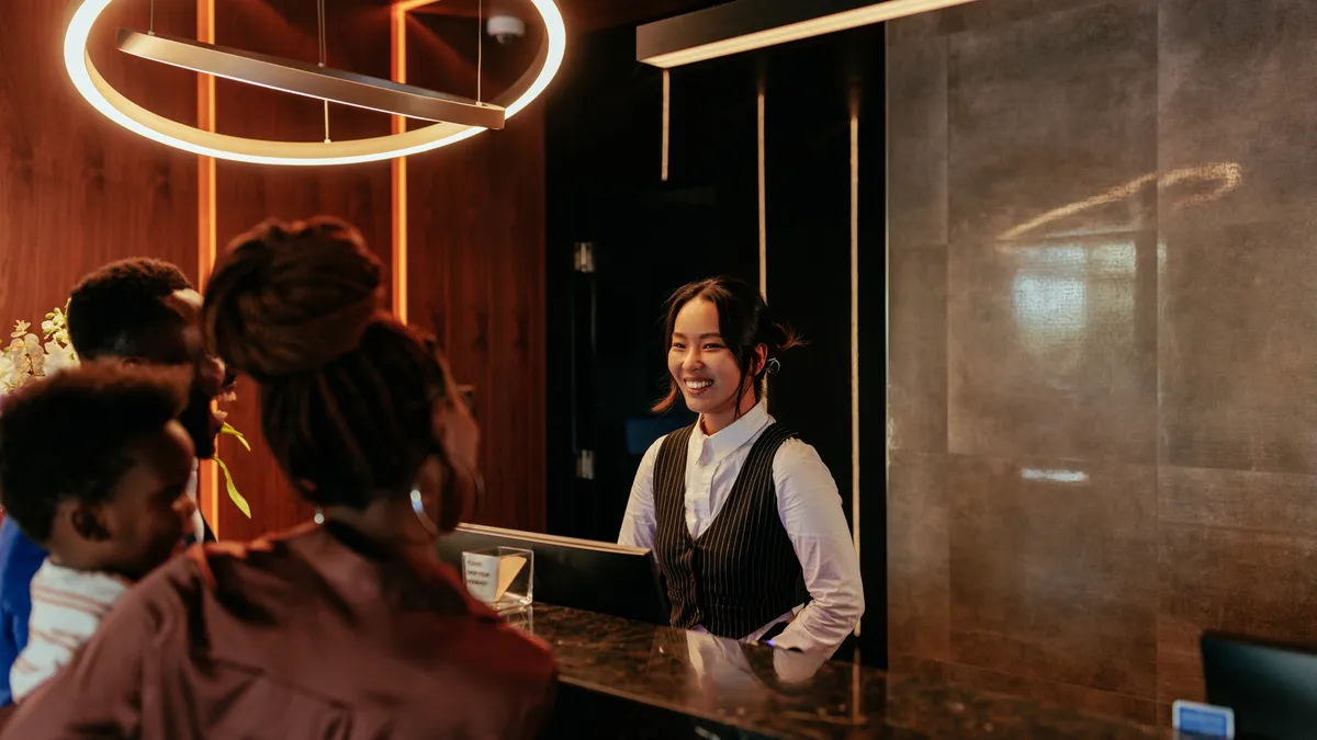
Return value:
<svg viewBox="0 0 1317 740">
<path fill-rule="evenodd" d="M 55 674 L 133 582 L 180 546 L 192 442 L 186 381 L 92 362 L 30 383 L 0 413 L 0 503 L 49 550 L 32 581 L 14 700 Z"/>
</svg>

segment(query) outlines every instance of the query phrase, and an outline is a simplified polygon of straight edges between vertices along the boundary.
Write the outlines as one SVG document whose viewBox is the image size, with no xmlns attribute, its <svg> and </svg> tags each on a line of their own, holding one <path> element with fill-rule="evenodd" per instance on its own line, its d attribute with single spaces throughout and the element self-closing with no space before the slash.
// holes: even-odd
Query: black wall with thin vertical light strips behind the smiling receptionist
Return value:
<svg viewBox="0 0 1317 740">
<path fill-rule="evenodd" d="M 769 410 L 814 444 L 852 510 L 852 359 L 869 388 L 857 413 L 872 462 L 861 548 L 874 662 L 885 660 L 881 428 L 881 28 L 672 72 L 669 176 L 661 179 L 662 75 L 635 62 L 635 32 L 587 36 L 569 51 L 548 109 L 549 529 L 614 540 L 640 457 L 693 416 L 649 406 L 666 390 L 662 302 L 678 286 L 731 274 L 759 284 L 759 92 L 765 100 L 766 279 L 774 313 L 807 348 L 781 358 Z M 589 111 L 589 115 L 582 115 Z M 861 121 L 859 348 L 851 337 L 852 117 Z M 589 242 L 594 271 L 573 270 Z M 865 295 L 877 296 L 864 298 Z M 863 349 L 860 349 L 863 348 Z M 863 394 L 861 394 L 863 398 Z M 877 404 L 877 406 L 873 406 Z M 581 477 L 579 452 L 593 453 Z M 863 507 L 861 507 L 863 508 Z M 861 528 L 863 529 L 863 528 Z"/>
</svg>

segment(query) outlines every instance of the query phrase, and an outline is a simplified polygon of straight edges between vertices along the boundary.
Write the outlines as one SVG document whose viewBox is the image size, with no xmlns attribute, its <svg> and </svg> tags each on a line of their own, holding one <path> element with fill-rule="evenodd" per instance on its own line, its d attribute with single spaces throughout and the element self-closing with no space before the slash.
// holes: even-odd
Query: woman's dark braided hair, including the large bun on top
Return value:
<svg viewBox="0 0 1317 740">
<path fill-rule="evenodd" d="M 432 410 L 448 371 L 432 342 L 379 308 L 381 271 L 341 220 L 269 220 L 229 245 L 205 288 L 207 341 L 259 383 L 265 438 L 320 506 L 404 492 L 441 456 Z"/>
</svg>

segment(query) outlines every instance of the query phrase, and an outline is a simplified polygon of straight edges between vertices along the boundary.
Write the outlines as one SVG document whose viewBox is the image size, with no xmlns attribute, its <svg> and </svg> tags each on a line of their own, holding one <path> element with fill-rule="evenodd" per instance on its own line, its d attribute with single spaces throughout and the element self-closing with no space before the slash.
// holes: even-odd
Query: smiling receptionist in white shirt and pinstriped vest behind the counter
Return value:
<svg viewBox="0 0 1317 740">
<path fill-rule="evenodd" d="M 645 453 L 618 541 L 653 550 L 673 627 L 832 654 L 864 612 L 860 564 L 827 466 L 763 402 L 799 340 L 731 278 L 678 288 L 665 340 L 655 410 L 699 420 Z"/>
</svg>

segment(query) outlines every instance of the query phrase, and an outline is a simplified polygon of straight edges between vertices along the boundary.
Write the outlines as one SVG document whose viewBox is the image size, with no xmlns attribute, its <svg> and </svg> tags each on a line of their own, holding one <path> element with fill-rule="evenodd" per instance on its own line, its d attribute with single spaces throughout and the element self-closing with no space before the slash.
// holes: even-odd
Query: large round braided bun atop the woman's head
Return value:
<svg viewBox="0 0 1317 740">
<path fill-rule="evenodd" d="M 205 291 L 204 327 L 258 381 L 316 370 L 356 349 L 379 309 L 381 263 L 352 225 L 269 220 L 237 237 Z"/>
</svg>

